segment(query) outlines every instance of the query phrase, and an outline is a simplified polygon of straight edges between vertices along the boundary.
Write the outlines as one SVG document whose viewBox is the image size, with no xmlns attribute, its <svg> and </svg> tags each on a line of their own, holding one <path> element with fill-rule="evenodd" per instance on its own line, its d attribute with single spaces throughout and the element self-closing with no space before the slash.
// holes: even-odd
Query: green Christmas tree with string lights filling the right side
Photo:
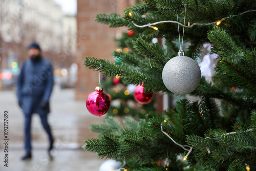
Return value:
<svg viewBox="0 0 256 171">
<path fill-rule="evenodd" d="M 104 76 L 118 74 L 125 84 L 144 83 L 145 92 L 171 94 L 163 68 L 178 53 L 199 62 L 202 46 L 210 42 L 218 63 L 212 80 L 200 78 L 189 92 L 200 100 L 183 98 L 174 109 L 150 112 L 145 119 L 127 117 L 123 124 L 109 117 L 91 125 L 99 138 L 84 141 L 84 149 L 125 161 L 127 170 L 256 170 L 255 9 L 253 0 L 149 0 L 126 8 L 123 16 L 98 14 L 102 24 L 139 33 L 129 47 L 133 53 L 114 52 L 122 59 L 118 65 L 85 58 L 86 67 Z M 164 45 L 150 43 L 155 37 Z M 181 39 L 184 49 L 177 44 Z M 168 67 L 178 70 L 176 63 Z"/>
</svg>

